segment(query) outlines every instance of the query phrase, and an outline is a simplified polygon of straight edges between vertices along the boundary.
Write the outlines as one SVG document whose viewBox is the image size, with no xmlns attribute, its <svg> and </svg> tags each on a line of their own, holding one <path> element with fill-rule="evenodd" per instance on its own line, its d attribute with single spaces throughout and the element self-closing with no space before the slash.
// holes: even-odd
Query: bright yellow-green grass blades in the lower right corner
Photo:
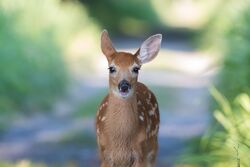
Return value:
<svg viewBox="0 0 250 167">
<path fill-rule="evenodd" d="M 209 167 L 248 167 L 250 96 L 240 94 L 230 104 L 216 89 L 211 93 L 220 106 L 214 112 L 220 126 L 203 136 L 195 155 L 191 154 L 182 161 Z"/>
</svg>

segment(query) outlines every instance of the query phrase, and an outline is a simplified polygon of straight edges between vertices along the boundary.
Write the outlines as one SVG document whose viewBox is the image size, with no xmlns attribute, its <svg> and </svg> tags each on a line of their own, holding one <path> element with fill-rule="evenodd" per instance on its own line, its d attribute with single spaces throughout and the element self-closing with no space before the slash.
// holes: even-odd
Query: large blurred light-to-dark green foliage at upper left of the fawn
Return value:
<svg viewBox="0 0 250 167">
<path fill-rule="evenodd" d="M 93 27 L 75 3 L 1 0 L 0 111 L 48 109 L 68 84 L 68 46 Z"/>
</svg>

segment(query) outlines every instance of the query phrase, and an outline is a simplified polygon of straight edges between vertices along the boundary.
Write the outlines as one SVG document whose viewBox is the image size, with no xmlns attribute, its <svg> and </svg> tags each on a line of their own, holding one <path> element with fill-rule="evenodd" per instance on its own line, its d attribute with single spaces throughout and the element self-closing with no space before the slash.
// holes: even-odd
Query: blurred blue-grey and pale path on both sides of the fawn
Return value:
<svg viewBox="0 0 250 167">
<path fill-rule="evenodd" d="M 175 63 L 179 66 L 179 72 L 176 72 L 176 69 L 173 71 L 146 68 L 140 74 L 140 80 L 150 86 L 161 86 L 176 91 L 175 103 L 160 108 L 158 164 L 164 167 L 173 164 L 187 147 L 185 142 L 201 135 L 209 121 L 207 87 L 213 73 L 204 72 L 204 69 L 210 66 L 210 59 L 205 61 L 206 66 L 202 69 L 191 73 L 185 66 L 181 68 L 183 63 L 188 61 L 197 65 L 204 63 L 204 59 L 182 42 L 179 45 L 178 42 L 163 44 L 163 50 L 176 53 L 164 61 Z M 195 64 L 191 64 L 191 68 L 194 68 L 192 66 Z M 105 75 L 100 73 L 86 76 L 84 82 L 76 84 L 69 96 L 55 106 L 53 113 L 37 114 L 13 122 L 0 139 L 0 160 L 30 159 L 47 164 L 73 163 L 76 166 L 98 166 L 96 148 L 93 144 L 94 119 L 76 118 L 72 115 L 79 103 L 97 93 L 97 87 L 106 87 L 107 82 L 103 82 L 107 79 Z M 89 140 L 61 142 L 61 139 L 69 134 L 83 134 L 90 143 Z"/>
</svg>

